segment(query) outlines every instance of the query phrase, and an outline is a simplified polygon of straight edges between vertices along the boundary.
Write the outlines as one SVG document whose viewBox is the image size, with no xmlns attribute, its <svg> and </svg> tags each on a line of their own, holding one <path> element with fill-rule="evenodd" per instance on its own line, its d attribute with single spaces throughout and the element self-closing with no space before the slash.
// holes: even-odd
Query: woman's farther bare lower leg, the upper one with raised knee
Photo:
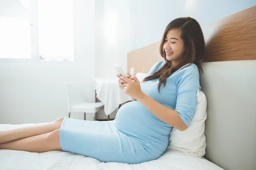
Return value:
<svg viewBox="0 0 256 170">
<path fill-rule="evenodd" d="M 0 132 L 0 144 L 15 141 L 17 139 L 23 139 L 30 136 L 41 135 L 52 132 L 61 127 L 63 117 L 56 119 L 53 122 L 38 123 L 36 125 L 21 127 L 13 130 L 6 130 Z"/>
</svg>

